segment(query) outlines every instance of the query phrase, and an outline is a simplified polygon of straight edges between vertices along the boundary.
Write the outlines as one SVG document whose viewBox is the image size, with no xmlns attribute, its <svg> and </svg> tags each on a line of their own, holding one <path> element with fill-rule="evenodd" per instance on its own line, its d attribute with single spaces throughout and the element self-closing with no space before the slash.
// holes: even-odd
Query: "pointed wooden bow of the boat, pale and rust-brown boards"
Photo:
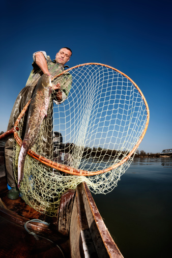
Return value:
<svg viewBox="0 0 172 258">
<path fill-rule="evenodd" d="M 71 256 L 123 257 L 110 236 L 86 183 L 76 188 L 70 224 Z"/>
</svg>

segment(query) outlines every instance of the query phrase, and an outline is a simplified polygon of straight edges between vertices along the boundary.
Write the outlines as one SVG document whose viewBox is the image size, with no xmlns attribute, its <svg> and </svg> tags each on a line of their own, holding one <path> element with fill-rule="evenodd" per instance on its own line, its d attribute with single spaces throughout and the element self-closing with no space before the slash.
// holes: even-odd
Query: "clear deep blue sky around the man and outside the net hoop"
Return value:
<svg viewBox="0 0 172 258">
<path fill-rule="evenodd" d="M 0 131 L 32 70 L 32 54 L 51 59 L 68 46 L 70 67 L 97 62 L 132 78 L 145 95 L 150 124 L 139 150 L 172 148 L 171 1 L 1 2 Z"/>
</svg>

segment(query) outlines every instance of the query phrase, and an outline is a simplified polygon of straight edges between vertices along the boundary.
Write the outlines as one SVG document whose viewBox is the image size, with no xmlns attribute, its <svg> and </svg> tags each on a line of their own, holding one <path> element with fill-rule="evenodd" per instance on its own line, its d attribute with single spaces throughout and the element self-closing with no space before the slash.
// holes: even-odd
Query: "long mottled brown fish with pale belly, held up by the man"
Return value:
<svg viewBox="0 0 172 258">
<path fill-rule="evenodd" d="M 20 187 L 20 182 L 24 176 L 24 161 L 26 153 L 36 142 L 42 121 L 47 114 L 51 93 L 52 84 L 50 76 L 43 74 L 38 80 L 30 103 L 30 108 L 28 110 L 26 130 L 18 157 L 18 188 Z"/>
</svg>

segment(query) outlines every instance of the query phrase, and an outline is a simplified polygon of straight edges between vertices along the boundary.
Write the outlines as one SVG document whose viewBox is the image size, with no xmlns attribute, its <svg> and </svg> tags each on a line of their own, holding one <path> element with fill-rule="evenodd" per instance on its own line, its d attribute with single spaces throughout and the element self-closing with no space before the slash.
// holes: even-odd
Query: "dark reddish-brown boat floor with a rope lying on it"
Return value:
<svg viewBox="0 0 172 258">
<path fill-rule="evenodd" d="M 69 237 L 57 232 L 56 217 L 48 217 L 35 211 L 20 197 L 10 200 L 7 192 L 6 177 L 2 177 L 0 178 L 0 256 L 70 257 Z M 29 228 L 29 231 L 35 232 L 38 236 L 37 239 L 24 228 L 25 222 L 32 219 L 50 223 L 49 226 L 46 226 L 42 223 L 32 222 L 32 229 Z"/>
</svg>

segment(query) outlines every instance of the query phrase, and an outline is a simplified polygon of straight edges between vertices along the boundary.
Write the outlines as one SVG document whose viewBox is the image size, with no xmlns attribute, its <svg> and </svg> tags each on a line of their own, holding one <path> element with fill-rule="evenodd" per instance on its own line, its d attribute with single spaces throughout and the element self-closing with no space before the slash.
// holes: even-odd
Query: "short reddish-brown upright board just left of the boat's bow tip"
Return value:
<svg viewBox="0 0 172 258">
<path fill-rule="evenodd" d="M 63 193 L 61 197 L 58 215 L 58 231 L 64 236 L 69 235 L 74 195 L 75 190 L 69 189 L 67 192 Z"/>
</svg>

